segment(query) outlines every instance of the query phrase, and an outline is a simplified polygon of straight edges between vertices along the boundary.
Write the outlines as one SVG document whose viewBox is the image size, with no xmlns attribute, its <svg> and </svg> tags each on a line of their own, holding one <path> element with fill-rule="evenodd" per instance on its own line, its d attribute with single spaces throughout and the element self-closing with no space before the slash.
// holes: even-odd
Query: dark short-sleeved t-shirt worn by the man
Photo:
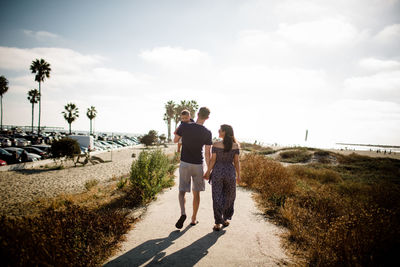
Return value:
<svg viewBox="0 0 400 267">
<path fill-rule="evenodd" d="M 202 164 L 203 146 L 212 145 L 211 132 L 197 123 L 182 123 L 176 134 L 182 137 L 181 161 Z"/>
</svg>

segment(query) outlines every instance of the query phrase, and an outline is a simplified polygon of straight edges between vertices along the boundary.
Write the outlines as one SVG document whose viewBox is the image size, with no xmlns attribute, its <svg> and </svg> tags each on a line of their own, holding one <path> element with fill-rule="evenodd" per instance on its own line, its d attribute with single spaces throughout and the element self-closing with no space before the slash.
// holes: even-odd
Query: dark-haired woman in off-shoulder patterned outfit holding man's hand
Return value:
<svg viewBox="0 0 400 267">
<path fill-rule="evenodd" d="M 236 198 L 236 182 L 240 182 L 240 147 L 232 127 L 221 125 L 219 137 L 223 141 L 213 144 L 210 165 L 204 175 L 205 179 L 210 179 L 212 187 L 215 231 L 221 230 L 221 225 L 229 225 L 228 220 L 232 219 Z"/>
</svg>

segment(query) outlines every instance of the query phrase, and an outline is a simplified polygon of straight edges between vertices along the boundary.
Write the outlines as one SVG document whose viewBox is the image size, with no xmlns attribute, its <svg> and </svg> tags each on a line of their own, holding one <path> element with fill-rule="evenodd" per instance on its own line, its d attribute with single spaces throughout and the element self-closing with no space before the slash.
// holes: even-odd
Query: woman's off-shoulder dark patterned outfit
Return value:
<svg viewBox="0 0 400 267">
<path fill-rule="evenodd" d="M 239 149 L 224 152 L 223 148 L 213 146 L 212 153 L 216 153 L 217 156 L 210 175 L 214 219 L 215 224 L 222 224 L 225 220 L 231 220 L 233 215 L 236 198 L 236 170 L 233 159 L 235 154 L 239 154 Z"/>
</svg>

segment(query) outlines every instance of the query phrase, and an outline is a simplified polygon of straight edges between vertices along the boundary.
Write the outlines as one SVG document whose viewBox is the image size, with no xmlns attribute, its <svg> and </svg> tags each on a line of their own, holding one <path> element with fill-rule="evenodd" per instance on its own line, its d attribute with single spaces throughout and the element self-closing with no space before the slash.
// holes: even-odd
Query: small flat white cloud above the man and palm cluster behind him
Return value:
<svg viewBox="0 0 400 267">
<path fill-rule="evenodd" d="M 186 70 L 187 68 L 210 63 L 210 57 L 207 53 L 197 49 L 170 46 L 143 50 L 139 57 L 145 61 L 173 70 Z"/>
</svg>

